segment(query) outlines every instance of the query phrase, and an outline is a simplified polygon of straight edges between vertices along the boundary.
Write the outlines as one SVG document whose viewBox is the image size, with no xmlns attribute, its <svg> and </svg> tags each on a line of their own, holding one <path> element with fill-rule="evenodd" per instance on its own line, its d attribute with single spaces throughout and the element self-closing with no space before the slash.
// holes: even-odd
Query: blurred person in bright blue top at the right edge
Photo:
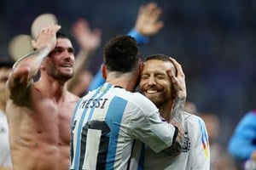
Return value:
<svg viewBox="0 0 256 170">
<path fill-rule="evenodd" d="M 238 122 L 228 149 L 241 163 L 251 157 L 256 159 L 256 110 L 248 111 Z"/>
</svg>

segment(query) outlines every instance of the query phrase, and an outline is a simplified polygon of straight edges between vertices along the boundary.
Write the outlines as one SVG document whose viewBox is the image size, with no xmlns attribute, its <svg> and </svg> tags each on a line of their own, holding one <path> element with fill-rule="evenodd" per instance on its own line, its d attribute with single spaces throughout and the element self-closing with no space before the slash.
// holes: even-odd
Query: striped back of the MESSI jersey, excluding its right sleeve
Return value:
<svg viewBox="0 0 256 170">
<path fill-rule="evenodd" d="M 80 99 L 73 116 L 71 169 L 127 169 L 134 117 L 139 121 L 140 109 L 131 103 L 136 96 L 105 83 Z"/>
</svg>

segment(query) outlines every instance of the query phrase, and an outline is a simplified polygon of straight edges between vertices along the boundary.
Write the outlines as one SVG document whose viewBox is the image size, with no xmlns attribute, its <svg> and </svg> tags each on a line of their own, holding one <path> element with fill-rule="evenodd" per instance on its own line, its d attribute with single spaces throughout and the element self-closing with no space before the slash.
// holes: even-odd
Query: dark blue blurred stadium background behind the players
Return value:
<svg viewBox="0 0 256 170">
<path fill-rule="evenodd" d="M 1 0 L 0 56 L 9 56 L 8 44 L 18 34 L 30 34 L 39 14 L 55 14 L 61 30 L 71 34 L 75 20 L 84 17 L 102 29 L 102 44 L 131 30 L 140 5 L 146 0 Z M 165 22 L 159 34 L 142 47 L 143 56 L 169 54 L 183 65 L 188 99 L 201 112 L 221 120 L 219 141 L 227 144 L 241 116 L 256 108 L 256 1 L 159 0 Z M 76 42 L 74 42 L 76 47 Z M 90 70 L 101 64 L 102 45 Z"/>
</svg>

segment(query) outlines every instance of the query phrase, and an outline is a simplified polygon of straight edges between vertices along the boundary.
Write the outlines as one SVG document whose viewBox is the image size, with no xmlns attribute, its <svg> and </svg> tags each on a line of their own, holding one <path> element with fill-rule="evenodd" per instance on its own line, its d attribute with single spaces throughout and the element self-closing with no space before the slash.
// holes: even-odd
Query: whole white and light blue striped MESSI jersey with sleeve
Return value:
<svg viewBox="0 0 256 170">
<path fill-rule="evenodd" d="M 148 144 L 162 150 L 172 144 L 173 134 L 174 127 L 160 120 L 142 94 L 105 82 L 76 105 L 70 169 L 140 169 L 142 144 L 136 139 L 147 143 L 149 137 Z"/>
</svg>

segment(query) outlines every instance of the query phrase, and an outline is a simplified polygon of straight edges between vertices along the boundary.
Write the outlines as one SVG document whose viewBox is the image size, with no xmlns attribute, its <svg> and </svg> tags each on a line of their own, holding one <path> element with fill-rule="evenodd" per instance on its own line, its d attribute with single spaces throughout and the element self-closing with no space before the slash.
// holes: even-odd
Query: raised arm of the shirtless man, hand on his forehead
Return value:
<svg viewBox="0 0 256 170">
<path fill-rule="evenodd" d="M 9 98 L 19 103 L 24 100 L 24 96 L 28 93 L 33 78 L 37 75 L 41 62 L 49 52 L 55 48 L 56 31 L 61 26 L 47 26 L 39 31 L 38 38 L 32 41 L 32 46 L 38 50 L 27 54 L 15 62 L 13 71 L 9 75 L 7 81 L 7 90 Z"/>
</svg>

